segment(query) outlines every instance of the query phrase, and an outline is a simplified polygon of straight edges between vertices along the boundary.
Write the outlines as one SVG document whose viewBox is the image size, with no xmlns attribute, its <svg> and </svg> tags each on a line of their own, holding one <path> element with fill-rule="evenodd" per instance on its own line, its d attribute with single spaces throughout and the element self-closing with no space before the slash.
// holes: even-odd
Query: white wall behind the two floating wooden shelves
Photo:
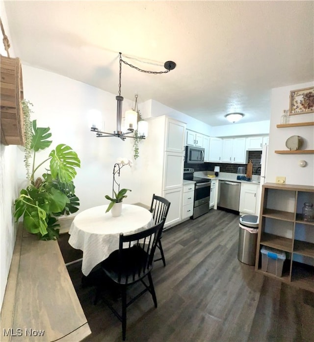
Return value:
<svg viewBox="0 0 314 342">
<path fill-rule="evenodd" d="M 284 109 L 289 108 L 291 90 L 313 87 L 313 82 L 293 84 L 274 88 L 271 91 L 271 119 L 269 131 L 269 150 L 266 170 L 266 182 L 275 182 L 276 176 L 285 176 L 287 184 L 314 185 L 314 154 L 277 154 L 275 150 L 288 150 L 286 140 L 292 135 L 303 138 L 302 149 L 314 149 L 314 126 L 277 128 Z M 313 122 L 314 114 L 301 114 L 289 117 L 289 122 Z M 307 167 L 298 166 L 300 160 L 306 160 Z"/>
</svg>

